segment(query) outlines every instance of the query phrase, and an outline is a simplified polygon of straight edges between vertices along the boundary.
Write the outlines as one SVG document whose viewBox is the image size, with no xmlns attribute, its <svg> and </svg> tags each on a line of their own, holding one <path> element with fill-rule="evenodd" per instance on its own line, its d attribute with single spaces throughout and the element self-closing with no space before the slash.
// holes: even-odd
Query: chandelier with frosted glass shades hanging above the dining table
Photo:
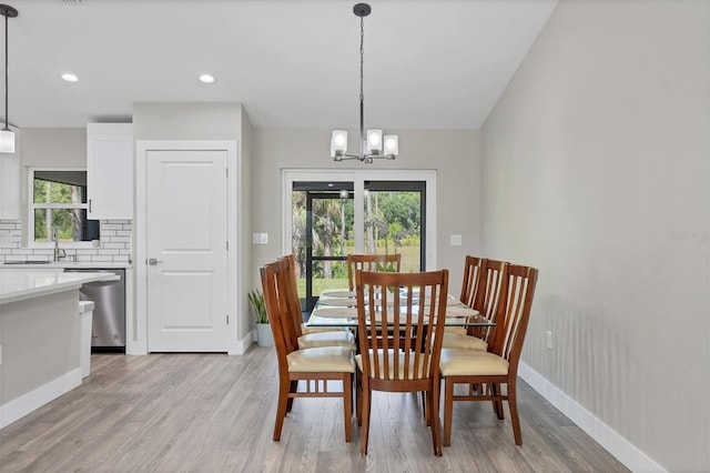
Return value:
<svg viewBox="0 0 710 473">
<path fill-rule="evenodd" d="M 399 137 L 396 134 L 387 134 L 383 138 L 382 130 L 367 130 L 367 133 L 365 133 L 365 95 L 363 93 L 363 57 L 365 54 L 363 48 L 365 40 L 364 18 L 367 17 L 371 11 L 372 9 L 367 3 L 357 3 L 353 7 L 353 13 L 359 17 L 359 152 L 357 154 L 348 154 L 347 131 L 333 130 L 333 134 L 331 135 L 331 158 L 333 158 L 334 161 L 356 159 L 364 163 L 372 164 L 374 159 L 395 159 L 399 152 Z"/>
</svg>

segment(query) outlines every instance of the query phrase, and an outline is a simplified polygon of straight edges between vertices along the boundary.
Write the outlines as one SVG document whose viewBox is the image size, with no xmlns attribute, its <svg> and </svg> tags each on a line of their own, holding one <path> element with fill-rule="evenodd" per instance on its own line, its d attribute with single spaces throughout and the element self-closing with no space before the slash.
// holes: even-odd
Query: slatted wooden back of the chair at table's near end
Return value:
<svg viewBox="0 0 710 473">
<path fill-rule="evenodd" d="M 438 376 L 448 271 L 358 270 L 355 279 L 363 374 L 403 382 Z"/>
</svg>

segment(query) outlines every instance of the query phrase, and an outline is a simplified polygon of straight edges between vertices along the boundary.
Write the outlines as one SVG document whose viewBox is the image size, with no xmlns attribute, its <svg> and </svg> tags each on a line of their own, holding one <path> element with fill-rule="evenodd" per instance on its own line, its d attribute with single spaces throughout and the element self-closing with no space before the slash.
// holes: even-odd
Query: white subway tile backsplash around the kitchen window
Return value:
<svg viewBox="0 0 710 473">
<path fill-rule="evenodd" d="M 101 241 L 98 248 L 64 249 L 67 260 L 78 262 L 128 263 L 131 260 L 131 220 L 101 220 Z M 22 223 L 0 220 L 0 261 L 51 261 L 53 249 L 22 246 Z"/>
</svg>

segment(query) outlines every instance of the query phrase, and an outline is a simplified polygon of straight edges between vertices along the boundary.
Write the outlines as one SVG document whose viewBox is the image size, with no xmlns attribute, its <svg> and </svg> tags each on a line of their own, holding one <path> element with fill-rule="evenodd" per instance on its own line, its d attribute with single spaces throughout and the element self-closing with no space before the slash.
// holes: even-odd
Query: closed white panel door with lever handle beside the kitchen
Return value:
<svg viewBox="0 0 710 473">
<path fill-rule="evenodd" d="M 227 351 L 227 152 L 145 163 L 148 351 Z"/>
</svg>

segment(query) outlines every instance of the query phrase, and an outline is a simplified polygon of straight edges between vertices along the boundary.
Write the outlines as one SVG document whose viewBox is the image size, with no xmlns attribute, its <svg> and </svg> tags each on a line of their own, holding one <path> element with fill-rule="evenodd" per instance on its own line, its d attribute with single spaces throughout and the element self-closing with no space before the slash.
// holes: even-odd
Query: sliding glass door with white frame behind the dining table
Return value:
<svg viewBox="0 0 710 473">
<path fill-rule="evenodd" d="M 366 172 L 349 171 L 347 177 L 355 174 L 355 179 L 345 180 L 337 172 L 284 172 L 284 208 L 290 209 L 284 253 L 296 259 L 304 311 L 313 309 L 324 290 L 348 286 L 348 253 L 400 253 L 402 270 L 407 272 L 422 271 L 429 263 L 432 177 L 366 179 L 371 178 Z"/>
</svg>

